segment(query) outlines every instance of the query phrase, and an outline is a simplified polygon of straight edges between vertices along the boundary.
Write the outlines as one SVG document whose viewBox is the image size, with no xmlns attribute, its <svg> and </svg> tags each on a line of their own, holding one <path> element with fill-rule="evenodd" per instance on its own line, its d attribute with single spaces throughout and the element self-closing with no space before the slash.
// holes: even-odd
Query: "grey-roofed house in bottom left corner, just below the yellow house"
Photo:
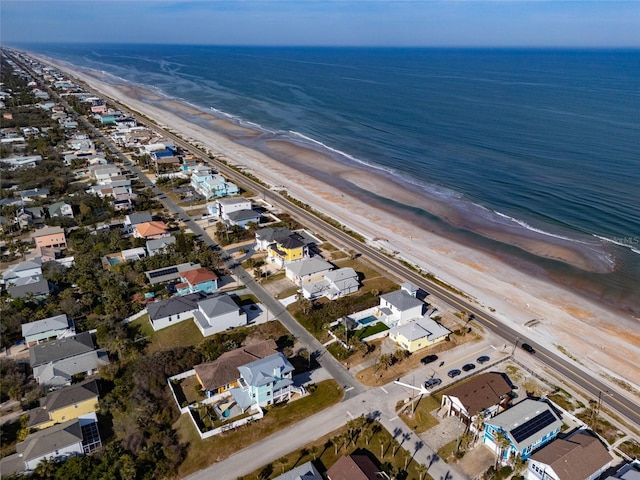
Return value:
<svg viewBox="0 0 640 480">
<path fill-rule="evenodd" d="M 101 446 L 97 417 L 88 414 L 28 435 L 16 445 L 17 453 L 0 460 L 0 475 L 30 472 L 43 460 L 65 461 Z"/>
</svg>

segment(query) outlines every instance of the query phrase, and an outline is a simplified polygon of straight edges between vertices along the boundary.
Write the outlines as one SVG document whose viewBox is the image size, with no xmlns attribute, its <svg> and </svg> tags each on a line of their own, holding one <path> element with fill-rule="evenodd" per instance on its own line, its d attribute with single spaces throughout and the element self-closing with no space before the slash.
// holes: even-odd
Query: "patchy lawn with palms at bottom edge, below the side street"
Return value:
<svg viewBox="0 0 640 480">
<path fill-rule="evenodd" d="M 345 440 L 347 431 L 348 427 L 345 425 L 303 448 L 290 452 L 268 465 L 263 465 L 249 475 L 238 477 L 238 480 L 273 479 L 308 461 L 313 461 L 321 473 L 326 473 L 338 458 L 350 454 L 368 456 L 391 478 L 397 480 L 419 480 L 420 478 L 432 480 L 431 476 L 423 473 L 424 467 L 412 460 L 414 452 L 408 452 L 402 448 L 378 422 L 370 424 L 368 436 L 360 433 L 352 441 Z"/>
</svg>

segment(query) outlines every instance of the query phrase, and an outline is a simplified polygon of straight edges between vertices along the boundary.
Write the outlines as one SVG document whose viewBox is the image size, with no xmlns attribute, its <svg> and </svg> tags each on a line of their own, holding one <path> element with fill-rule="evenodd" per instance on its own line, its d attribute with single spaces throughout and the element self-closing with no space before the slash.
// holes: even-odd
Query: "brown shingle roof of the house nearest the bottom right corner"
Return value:
<svg viewBox="0 0 640 480">
<path fill-rule="evenodd" d="M 611 463 L 607 447 L 593 434 L 579 431 L 567 439 L 556 439 L 531 456 L 549 465 L 560 480 L 584 480 Z"/>
</svg>

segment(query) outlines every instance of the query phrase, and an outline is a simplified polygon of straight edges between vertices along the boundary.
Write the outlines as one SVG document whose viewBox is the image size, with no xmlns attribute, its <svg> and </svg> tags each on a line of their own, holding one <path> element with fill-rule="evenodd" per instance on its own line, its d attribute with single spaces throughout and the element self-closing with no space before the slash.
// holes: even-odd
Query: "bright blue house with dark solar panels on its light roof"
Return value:
<svg viewBox="0 0 640 480">
<path fill-rule="evenodd" d="M 549 404 L 526 398 L 513 407 L 486 419 L 483 443 L 496 452 L 501 461 L 512 455 L 524 460 L 558 435 L 562 420 Z M 504 436 L 509 446 L 499 446 Z"/>
</svg>

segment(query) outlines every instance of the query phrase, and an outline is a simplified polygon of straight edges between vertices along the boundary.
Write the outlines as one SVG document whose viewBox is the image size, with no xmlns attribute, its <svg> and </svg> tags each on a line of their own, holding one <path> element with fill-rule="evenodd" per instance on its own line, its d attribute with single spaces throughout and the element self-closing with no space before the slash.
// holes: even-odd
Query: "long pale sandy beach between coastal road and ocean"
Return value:
<svg viewBox="0 0 640 480">
<path fill-rule="evenodd" d="M 420 228 L 410 216 L 399 218 L 384 202 L 364 201 L 362 191 L 374 192 L 381 198 L 406 205 L 414 205 L 419 198 L 406 186 L 384 177 L 382 172 L 345 165 L 320 152 L 290 143 L 266 142 L 267 148 L 278 154 L 280 160 L 276 160 L 268 152 L 237 143 L 258 134 L 251 128 L 140 87 L 107 83 L 86 71 L 71 69 L 48 58 L 41 60 L 55 64 L 106 97 L 144 113 L 184 138 L 194 139 L 262 181 L 286 189 L 293 197 L 361 233 L 371 245 L 398 252 L 398 257 L 434 273 L 474 298 L 488 313 L 521 331 L 523 336 L 551 350 L 562 347 L 578 359 L 579 368 L 593 372 L 603 380 L 621 379 L 640 391 L 638 319 L 514 268 L 512 263 L 498 256 Z M 286 161 L 282 161 L 283 158 Z M 455 225 L 454 212 L 439 210 L 436 204 L 430 208 L 432 213 L 442 215 Z M 482 229 L 482 225 L 477 228 Z M 494 232 L 485 233 L 491 237 Z M 562 244 L 543 244 L 533 238 L 515 236 L 509 240 L 525 250 L 548 258 L 561 258 L 585 270 L 605 268 L 595 254 L 594 257 L 580 254 Z M 534 318 L 540 320 L 536 327 L 524 327 Z M 611 388 L 621 395 L 632 395 L 613 383 Z"/>
</svg>

